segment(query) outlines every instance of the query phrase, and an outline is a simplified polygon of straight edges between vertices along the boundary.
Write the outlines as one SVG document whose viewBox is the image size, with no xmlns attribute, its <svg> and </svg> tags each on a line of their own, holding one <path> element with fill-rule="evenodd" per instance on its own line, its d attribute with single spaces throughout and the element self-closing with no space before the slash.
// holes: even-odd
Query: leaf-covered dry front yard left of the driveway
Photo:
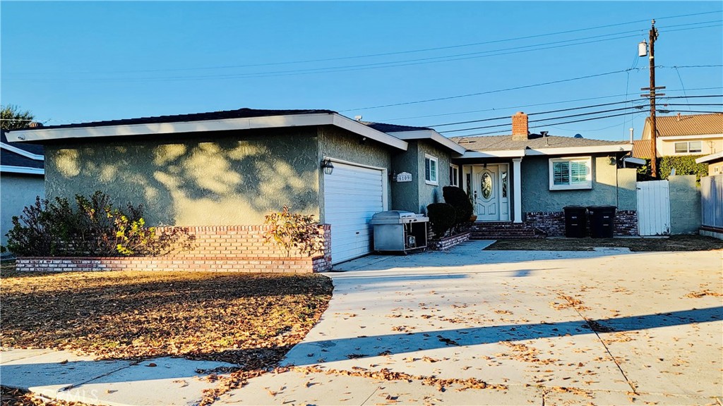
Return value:
<svg viewBox="0 0 723 406">
<path fill-rule="evenodd" d="M 244 368 L 273 364 L 315 324 L 332 290 L 322 275 L 4 268 L 0 345 L 108 359 L 174 355 Z"/>
</svg>

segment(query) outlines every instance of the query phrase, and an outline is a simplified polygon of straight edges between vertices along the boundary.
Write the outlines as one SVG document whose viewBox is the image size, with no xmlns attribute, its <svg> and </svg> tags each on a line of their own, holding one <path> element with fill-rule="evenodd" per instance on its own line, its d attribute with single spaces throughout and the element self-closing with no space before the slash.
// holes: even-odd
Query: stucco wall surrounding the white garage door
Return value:
<svg viewBox="0 0 723 406">
<path fill-rule="evenodd" d="M 367 139 L 361 142 L 361 136 L 351 131 L 346 131 L 334 126 L 320 126 L 318 128 L 318 153 L 313 162 L 319 167 L 324 157 L 345 160 L 359 165 L 369 165 L 376 168 L 386 168 L 388 173 L 392 167 L 392 147 L 388 147 L 379 142 Z M 401 150 L 399 152 L 402 152 Z M 320 189 L 324 190 L 324 177 L 320 176 L 320 170 L 317 170 L 317 183 Z M 387 183 L 387 202 L 392 203 L 391 182 Z M 320 212 L 324 212 L 324 196 L 319 194 L 317 204 Z M 324 221 L 323 215 L 320 217 Z M 332 231 L 333 232 L 333 231 Z"/>
</svg>

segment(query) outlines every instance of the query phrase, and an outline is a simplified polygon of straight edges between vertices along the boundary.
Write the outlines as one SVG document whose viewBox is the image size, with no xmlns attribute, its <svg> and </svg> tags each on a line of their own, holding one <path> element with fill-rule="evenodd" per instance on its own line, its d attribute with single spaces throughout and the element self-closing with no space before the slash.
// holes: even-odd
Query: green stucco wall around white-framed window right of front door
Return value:
<svg viewBox="0 0 723 406">
<path fill-rule="evenodd" d="M 636 210 L 635 170 L 618 169 L 609 162 L 609 156 L 592 158 L 592 189 L 551 191 L 549 157 L 525 157 L 521 163 L 522 212 L 560 212 L 571 205 Z"/>
</svg>

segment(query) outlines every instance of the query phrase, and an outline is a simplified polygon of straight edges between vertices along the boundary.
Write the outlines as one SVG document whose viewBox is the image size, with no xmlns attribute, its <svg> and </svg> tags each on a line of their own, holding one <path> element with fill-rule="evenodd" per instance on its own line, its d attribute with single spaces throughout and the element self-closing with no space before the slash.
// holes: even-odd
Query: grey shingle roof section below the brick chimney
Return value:
<svg viewBox="0 0 723 406">
<path fill-rule="evenodd" d="M 502 150 L 533 150 L 547 148 L 568 148 L 568 147 L 598 147 L 601 145 L 628 144 L 625 141 L 602 141 L 600 139 L 558 137 L 550 135 L 536 139 L 513 139 L 511 135 L 495 135 L 481 137 L 453 137 L 452 141 L 457 142 L 468 150 L 473 151 L 502 151 Z"/>
</svg>

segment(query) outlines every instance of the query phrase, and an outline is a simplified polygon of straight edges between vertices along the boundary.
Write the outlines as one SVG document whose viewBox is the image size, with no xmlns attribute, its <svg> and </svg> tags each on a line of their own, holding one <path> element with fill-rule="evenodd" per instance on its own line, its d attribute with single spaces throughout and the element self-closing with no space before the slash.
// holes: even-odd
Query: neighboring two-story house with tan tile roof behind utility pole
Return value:
<svg viewBox="0 0 723 406">
<path fill-rule="evenodd" d="M 657 116 L 656 152 L 658 157 L 709 155 L 723 151 L 723 114 L 692 116 Z M 634 142 L 633 156 L 650 158 L 650 118 L 646 118 L 643 135 Z"/>
</svg>

